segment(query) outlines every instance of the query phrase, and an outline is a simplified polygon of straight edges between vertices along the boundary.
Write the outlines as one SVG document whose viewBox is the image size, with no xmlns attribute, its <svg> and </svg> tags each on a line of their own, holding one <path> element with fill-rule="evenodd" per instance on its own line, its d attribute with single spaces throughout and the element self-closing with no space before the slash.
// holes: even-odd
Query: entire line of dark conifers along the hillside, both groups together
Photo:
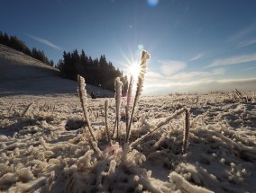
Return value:
<svg viewBox="0 0 256 193">
<path fill-rule="evenodd" d="M 49 60 L 44 52 L 37 48 L 28 48 L 26 44 L 16 36 L 9 36 L 6 32 L 0 31 L 0 43 L 7 47 L 14 48 L 24 54 L 40 60 L 41 62 L 54 66 L 52 60 Z M 84 50 L 78 53 L 75 49 L 72 53 L 64 51 L 63 59 L 56 65 L 62 76 L 77 81 L 77 76 L 82 75 L 87 83 L 102 87 L 103 89 L 114 91 L 114 79 L 120 77 L 123 81 L 123 91 L 127 90 L 127 76 L 123 76 L 118 68 L 115 68 L 111 62 L 107 62 L 105 55 L 99 59 L 87 57 Z"/>
</svg>

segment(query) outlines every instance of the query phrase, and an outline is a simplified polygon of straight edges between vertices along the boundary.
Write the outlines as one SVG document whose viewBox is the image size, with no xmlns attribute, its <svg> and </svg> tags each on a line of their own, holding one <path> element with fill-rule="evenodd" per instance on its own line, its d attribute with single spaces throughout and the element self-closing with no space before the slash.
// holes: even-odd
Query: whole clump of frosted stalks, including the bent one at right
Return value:
<svg viewBox="0 0 256 193">
<path fill-rule="evenodd" d="M 134 95 L 134 98 L 132 100 L 132 91 L 133 91 L 133 75 L 130 78 L 130 82 L 128 85 L 128 91 L 126 94 L 126 105 L 124 107 L 125 110 L 125 121 L 126 121 L 126 128 L 125 128 L 125 135 L 124 139 L 120 135 L 120 110 L 121 110 L 121 103 L 122 103 L 122 85 L 123 83 L 120 81 L 120 78 L 117 77 L 114 81 L 114 90 L 115 90 L 115 124 L 114 124 L 114 129 L 113 129 L 113 134 L 110 136 L 110 130 L 108 126 L 108 118 L 107 118 L 107 112 L 108 112 L 108 100 L 105 101 L 105 134 L 108 139 L 109 145 L 112 144 L 112 141 L 115 140 L 115 142 L 122 143 L 123 145 L 130 145 L 131 147 L 134 147 L 135 145 L 138 145 L 140 141 L 145 139 L 148 136 L 151 136 L 153 132 L 158 130 L 160 127 L 163 125 L 167 124 L 172 118 L 177 118 L 178 115 L 184 113 L 185 114 L 185 128 L 184 128 L 184 138 L 183 138 L 183 145 L 182 145 L 182 153 L 185 154 L 187 152 L 187 140 L 188 140 L 188 132 L 189 132 L 189 112 L 187 108 L 183 108 L 180 110 L 177 110 L 173 115 L 169 116 L 169 118 L 166 118 L 164 121 L 161 121 L 157 126 L 155 126 L 154 129 L 151 131 L 148 131 L 145 135 L 137 138 L 133 143 L 129 143 L 129 139 L 131 136 L 131 131 L 132 131 L 132 124 L 133 124 L 133 116 L 134 112 L 136 110 L 136 105 L 138 104 L 140 97 L 142 95 L 142 89 L 143 89 L 143 84 L 144 84 L 144 79 L 145 79 L 145 74 L 147 72 L 147 66 L 148 66 L 148 61 L 150 60 L 151 56 L 150 54 L 142 50 L 141 53 L 141 61 L 140 61 L 140 73 L 138 75 L 137 79 L 137 88 L 136 92 Z M 78 93 L 80 97 L 80 101 L 82 104 L 82 109 L 84 111 L 84 115 L 87 121 L 88 129 L 90 132 L 90 135 L 96 141 L 96 136 L 93 133 L 93 128 L 91 127 L 90 120 L 88 118 L 88 113 L 87 113 L 87 94 L 85 90 L 85 80 L 82 76 L 78 75 Z M 133 101 L 133 106 L 131 107 L 131 103 Z M 116 135 L 114 136 L 114 131 L 116 127 Z"/>
</svg>

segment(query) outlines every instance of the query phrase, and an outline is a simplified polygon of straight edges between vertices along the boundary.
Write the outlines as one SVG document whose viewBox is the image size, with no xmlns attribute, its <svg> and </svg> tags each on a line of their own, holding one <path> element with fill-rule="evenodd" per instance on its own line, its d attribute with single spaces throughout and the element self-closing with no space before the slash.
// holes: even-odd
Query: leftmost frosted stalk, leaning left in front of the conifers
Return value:
<svg viewBox="0 0 256 193">
<path fill-rule="evenodd" d="M 85 82 L 85 79 L 80 75 L 78 75 L 78 94 L 79 94 L 79 98 L 80 98 L 80 101 L 81 101 L 84 116 L 85 116 L 86 121 L 87 121 L 89 132 L 90 132 L 91 136 L 93 137 L 93 139 L 96 141 L 96 137 L 94 136 L 93 128 L 91 126 L 91 122 L 90 122 L 89 116 L 88 116 L 86 82 Z"/>
</svg>

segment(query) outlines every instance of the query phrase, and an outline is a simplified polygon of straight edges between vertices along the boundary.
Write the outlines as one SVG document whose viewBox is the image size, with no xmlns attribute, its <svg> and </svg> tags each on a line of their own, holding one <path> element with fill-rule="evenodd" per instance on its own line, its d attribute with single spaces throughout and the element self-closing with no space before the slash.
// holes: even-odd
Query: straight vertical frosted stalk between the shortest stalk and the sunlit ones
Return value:
<svg viewBox="0 0 256 193">
<path fill-rule="evenodd" d="M 121 94 L 122 94 L 122 85 L 123 83 L 120 81 L 120 78 L 115 78 L 114 81 L 114 99 L 115 99 L 115 121 L 116 121 L 116 137 L 119 137 L 119 114 L 120 114 L 120 106 L 121 106 Z M 115 127 L 114 127 L 115 128 Z M 113 131 L 114 135 L 114 131 Z"/>
</svg>

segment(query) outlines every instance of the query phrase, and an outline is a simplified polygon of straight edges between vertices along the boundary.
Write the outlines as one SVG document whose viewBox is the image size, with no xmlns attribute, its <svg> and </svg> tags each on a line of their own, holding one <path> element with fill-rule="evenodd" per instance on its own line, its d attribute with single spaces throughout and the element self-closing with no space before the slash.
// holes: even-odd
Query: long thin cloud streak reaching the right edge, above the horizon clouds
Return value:
<svg viewBox="0 0 256 193">
<path fill-rule="evenodd" d="M 256 61 L 256 53 L 250 55 L 242 55 L 237 57 L 228 57 L 224 59 L 217 59 L 206 67 L 215 67 L 215 66 L 229 66 L 229 65 L 238 65 L 242 63 L 248 63 Z"/>
</svg>

